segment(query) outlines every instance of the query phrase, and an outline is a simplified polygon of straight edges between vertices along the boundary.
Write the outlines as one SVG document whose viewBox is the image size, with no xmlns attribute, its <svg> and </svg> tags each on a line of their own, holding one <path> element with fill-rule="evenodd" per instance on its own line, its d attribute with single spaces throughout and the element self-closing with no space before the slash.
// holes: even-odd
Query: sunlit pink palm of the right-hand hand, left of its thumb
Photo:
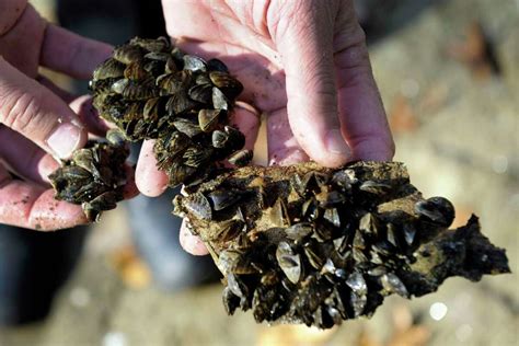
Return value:
<svg viewBox="0 0 519 346">
<path fill-rule="evenodd" d="M 263 2 L 256 1 L 255 5 L 264 5 Z M 253 10 L 252 5 L 252 2 L 237 2 L 231 8 L 226 1 L 165 1 L 168 32 L 172 37 L 181 37 L 177 45 L 188 53 L 220 57 L 244 83 L 245 91 L 241 100 L 268 114 L 272 163 L 288 157 L 301 161 L 307 157 L 288 125 L 285 71 L 280 55 L 266 27 L 255 27 L 253 18 L 242 21 L 237 15 L 237 12 Z M 175 10 L 170 10 L 171 7 Z M 249 126 L 238 125 L 241 125 L 247 138 L 254 139 L 257 118 L 251 115 L 247 117 L 241 109 L 238 113 L 239 122 L 244 123 L 249 118 Z"/>
</svg>

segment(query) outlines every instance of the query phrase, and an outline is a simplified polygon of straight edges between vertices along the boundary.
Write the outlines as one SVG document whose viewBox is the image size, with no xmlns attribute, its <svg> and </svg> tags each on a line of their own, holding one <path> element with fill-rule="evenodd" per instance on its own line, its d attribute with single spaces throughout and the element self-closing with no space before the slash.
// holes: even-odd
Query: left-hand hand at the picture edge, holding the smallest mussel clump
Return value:
<svg viewBox="0 0 519 346">
<path fill-rule="evenodd" d="M 86 222 L 80 206 L 54 199 L 47 175 L 59 166 L 54 158 L 85 143 L 85 126 L 103 129 L 86 97 L 60 90 L 38 67 L 88 79 L 111 50 L 48 24 L 26 0 L 0 2 L 0 223 L 54 230 Z"/>
</svg>

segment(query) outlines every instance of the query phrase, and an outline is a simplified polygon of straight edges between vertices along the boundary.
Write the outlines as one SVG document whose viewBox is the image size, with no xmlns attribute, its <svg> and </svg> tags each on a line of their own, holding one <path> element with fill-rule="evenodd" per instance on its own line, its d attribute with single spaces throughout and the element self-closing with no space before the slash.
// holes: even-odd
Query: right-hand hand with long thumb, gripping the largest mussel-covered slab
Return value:
<svg viewBox="0 0 519 346">
<path fill-rule="evenodd" d="M 162 2 L 168 33 L 178 38 L 176 44 L 191 54 L 219 57 L 244 84 L 241 99 L 267 114 L 270 164 L 310 157 L 338 166 L 356 159 L 393 157 L 351 1 Z M 241 108 L 235 115 L 253 141 L 257 118 Z M 151 148 L 146 142 L 141 151 L 137 186 L 158 196 L 166 177 L 157 170 Z M 181 232 L 181 240 L 187 251 L 205 252 L 188 232 Z"/>
</svg>

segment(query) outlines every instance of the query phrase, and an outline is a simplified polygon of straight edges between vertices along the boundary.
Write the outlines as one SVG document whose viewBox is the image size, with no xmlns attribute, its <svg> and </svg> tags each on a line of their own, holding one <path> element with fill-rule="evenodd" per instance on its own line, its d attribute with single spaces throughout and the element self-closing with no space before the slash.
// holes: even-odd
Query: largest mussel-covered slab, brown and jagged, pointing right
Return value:
<svg viewBox="0 0 519 346">
<path fill-rule="evenodd" d="M 174 200 L 226 276 L 223 303 L 256 321 L 327 328 L 371 315 L 385 296 L 435 291 L 450 276 L 508 273 L 477 218 L 425 199 L 403 164 L 242 168 Z"/>
</svg>

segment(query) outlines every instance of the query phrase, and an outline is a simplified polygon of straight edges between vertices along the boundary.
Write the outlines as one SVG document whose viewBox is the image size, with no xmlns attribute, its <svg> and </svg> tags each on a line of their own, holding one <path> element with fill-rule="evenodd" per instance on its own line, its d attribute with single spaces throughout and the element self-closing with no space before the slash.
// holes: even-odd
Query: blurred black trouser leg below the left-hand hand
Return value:
<svg viewBox="0 0 519 346">
<path fill-rule="evenodd" d="M 0 224 L 0 325 L 44 319 L 81 253 L 86 228 L 37 232 Z"/>
</svg>

